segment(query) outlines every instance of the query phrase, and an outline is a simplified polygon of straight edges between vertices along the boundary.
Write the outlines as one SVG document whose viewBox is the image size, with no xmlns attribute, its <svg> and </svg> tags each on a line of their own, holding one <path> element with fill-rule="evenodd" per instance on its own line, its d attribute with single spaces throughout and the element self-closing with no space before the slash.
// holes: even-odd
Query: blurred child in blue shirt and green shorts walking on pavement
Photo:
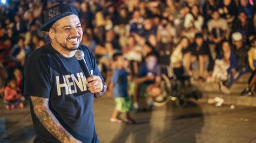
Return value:
<svg viewBox="0 0 256 143">
<path fill-rule="evenodd" d="M 115 69 L 111 78 L 110 90 L 113 89 L 114 101 L 116 107 L 113 111 L 110 121 L 112 123 L 128 123 L 133 124 L 135 121 L 130 117 L 130 111 L 132 110 L 132 101 L 129 97 L 128 81 L 127 81 L 127 71 L 125 70 L 125 59 L 123 54 L 115 53 L 113 54 L 113 61 Z M 118 119 L 119 112 L 125 113 L 125 119 Z"/>
</svg>

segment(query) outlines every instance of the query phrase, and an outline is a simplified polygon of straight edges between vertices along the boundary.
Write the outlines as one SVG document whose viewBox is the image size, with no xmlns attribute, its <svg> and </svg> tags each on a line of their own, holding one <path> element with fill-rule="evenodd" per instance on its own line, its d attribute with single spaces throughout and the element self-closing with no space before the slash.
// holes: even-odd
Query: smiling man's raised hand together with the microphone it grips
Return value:
<svg viewBox="0 0 256 143">
<path fill-rule="evenodd" d="M 76 59 L 78 60 L 87 81 L 87 89 L 92 93 L 96 94 L 103 90 L 103 82 L 99 76 L 91 75 L 89 68 L 87 67 L 86 61 L 84 60 L 84 52 L 77 50 L 75 53 Z"/>
</svg>

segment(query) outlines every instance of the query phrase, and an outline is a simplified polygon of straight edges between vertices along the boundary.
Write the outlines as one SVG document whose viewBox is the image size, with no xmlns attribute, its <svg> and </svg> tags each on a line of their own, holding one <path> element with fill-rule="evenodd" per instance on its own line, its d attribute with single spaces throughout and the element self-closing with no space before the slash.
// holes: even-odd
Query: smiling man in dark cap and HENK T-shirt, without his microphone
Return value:
<svg viewBox="0 0 256 143">
<path fill-rule="evenodd" d="M 24 68 L 24 95 L 36 133 L 34 142 L 99 142 L 93 120 L 93 95 L 106 86 L 95 57 L 80 45 L 83 30 L 78 13 L 68 4 L 52 6 L 44 16 L 43 31 L 51 42 L 31 53 Z M 75 52 L 84 52 L 92 76 L 85 78 Z"/>
</svg>

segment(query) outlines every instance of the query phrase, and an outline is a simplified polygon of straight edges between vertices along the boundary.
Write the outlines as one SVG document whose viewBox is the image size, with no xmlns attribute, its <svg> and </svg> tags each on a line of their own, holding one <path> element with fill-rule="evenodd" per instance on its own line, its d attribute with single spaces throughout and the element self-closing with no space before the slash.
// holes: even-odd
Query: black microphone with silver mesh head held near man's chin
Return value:
<svg viewBox="0 0 256 143">
<path fill-rule="evenodd" d="M 82 68 L 84 75 L 86 78 L 88 78 L 91 75 L 91 72 L 86 64 L 86 61 L 84 60 L 84 52 L 82 50 L 77 50 L 75 53 L 75 57 L 79 62 L 80 67 Z"/>
</svg>

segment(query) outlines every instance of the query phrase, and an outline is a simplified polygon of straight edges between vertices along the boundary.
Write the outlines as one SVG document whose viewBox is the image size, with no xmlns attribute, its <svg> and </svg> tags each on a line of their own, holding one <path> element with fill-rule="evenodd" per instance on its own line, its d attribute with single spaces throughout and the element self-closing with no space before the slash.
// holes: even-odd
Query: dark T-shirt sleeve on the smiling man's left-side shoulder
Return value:
<svg viewBox="0 0 256 143">
<path fill-rule="evenodd" d="M 29 56 L 24 67 L 24 95 L 50 98 L 52 80 L 49 64 L 40 51 Z"/>
</svg>

